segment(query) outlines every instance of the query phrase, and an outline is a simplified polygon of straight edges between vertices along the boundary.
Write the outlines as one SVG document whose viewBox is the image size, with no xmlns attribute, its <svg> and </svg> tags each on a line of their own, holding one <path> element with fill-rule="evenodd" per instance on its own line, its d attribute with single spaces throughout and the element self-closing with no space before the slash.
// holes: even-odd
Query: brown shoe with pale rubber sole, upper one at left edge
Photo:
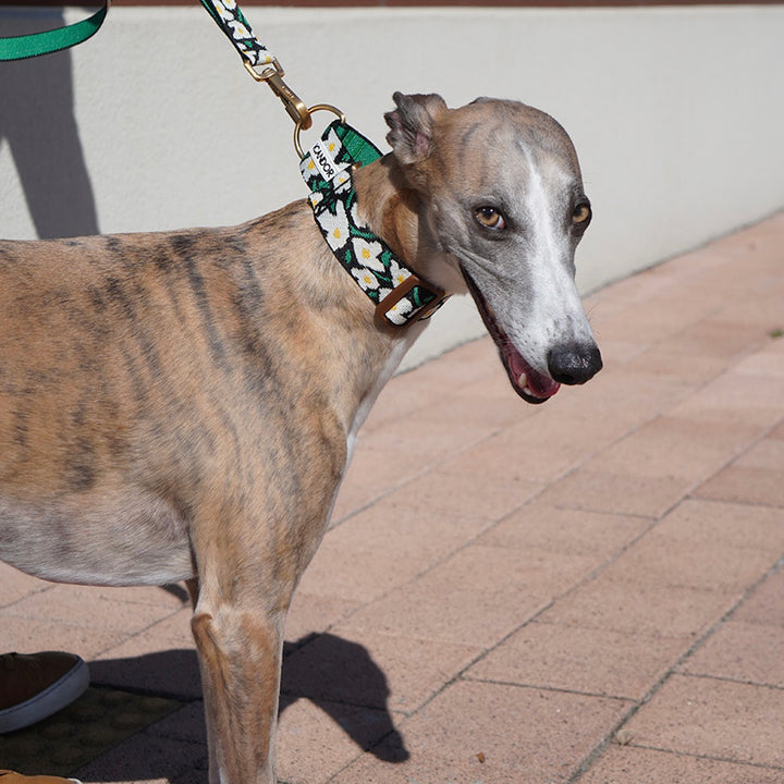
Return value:
<svg viewBox="0 0 784 784">
<path fill-rule="evenodd" d="M 71 705 L 89 684 L 84 660 L 45 651 L 0 656 L 0 734 L 22 730 Z M 19 775 L 15 773 L 14 775 Z M 8 773 L 0 784 L 14 784 Z"/>
</svg>

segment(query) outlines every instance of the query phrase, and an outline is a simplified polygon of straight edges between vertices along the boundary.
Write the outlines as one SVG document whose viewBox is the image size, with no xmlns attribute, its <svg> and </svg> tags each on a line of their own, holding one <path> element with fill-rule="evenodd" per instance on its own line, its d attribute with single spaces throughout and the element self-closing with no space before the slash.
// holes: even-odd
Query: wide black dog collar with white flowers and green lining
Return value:
<svg viewBox="0 0 784 784">
<path fill-rule="evenodd" d="M 446 301 L 395 256 L 357 215 L 352 181 L 355 166 L 381 157 L 379 149 L 335 120 L 302 158 L 310 206 L 321 234 L 341 266 L 376 306 L 376 317 L 395 327 L 429 318 Z"/>
</svg>

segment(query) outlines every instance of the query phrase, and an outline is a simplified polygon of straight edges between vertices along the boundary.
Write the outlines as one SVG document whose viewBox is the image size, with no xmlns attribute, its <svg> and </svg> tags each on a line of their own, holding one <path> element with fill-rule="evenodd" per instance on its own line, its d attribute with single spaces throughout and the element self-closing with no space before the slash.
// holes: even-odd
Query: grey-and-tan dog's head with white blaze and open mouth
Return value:
<svg viewBox="0 0 784 784">
<path fill-rule="evenodd" d="M 574 254 L 591 208 L 566 132 L 514 101 L 449 109 L 440 96 L 400 93 L 394 101 L 387 139 L 402 187 L 417 196 L 418 271 L 470 292 L 528 402 L 590 379 L 602 363 Z"/>
</svg>

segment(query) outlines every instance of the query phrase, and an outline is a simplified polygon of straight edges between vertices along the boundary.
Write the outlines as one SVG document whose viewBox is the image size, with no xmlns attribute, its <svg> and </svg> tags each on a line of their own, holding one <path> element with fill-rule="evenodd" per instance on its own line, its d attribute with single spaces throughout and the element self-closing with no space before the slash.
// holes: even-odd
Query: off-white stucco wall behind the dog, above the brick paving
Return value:
<svg viewBox="0 0 784 784">
<path fill-rule="evenodd" d="M 553 114 L 595 206 L 584 292 L 784 206 L 784 5 L 246 13 L 306 102 L 384 148 L 396 89 Z M 0 8 L 0 35 L 57 22 Z M 0 235 L 238 223 L 305 195 L 292 128 L 196 0 L 115 7 L 70 54 L 0 63 Z M 458 298 L 408 364 L 479 333 Z"/>
</svg>

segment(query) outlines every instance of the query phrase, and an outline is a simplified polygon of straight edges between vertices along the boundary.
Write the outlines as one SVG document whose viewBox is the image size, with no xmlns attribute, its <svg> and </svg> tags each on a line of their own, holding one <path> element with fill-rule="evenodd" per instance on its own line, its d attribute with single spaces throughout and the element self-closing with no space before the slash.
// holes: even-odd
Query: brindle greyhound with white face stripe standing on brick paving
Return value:
<svg viewBox="0 0 784 784">
<path fill-rule="evenodd" d="M 591 217 L 564 130 L 395 94 L 362 217 L 470 292 L 514 390 L 601 358 L 574 283 Z M 231 229 L 0 242 L 0 556 L 45 579 L 185 580 L 211 782 L 273 784 L 283 627 L 356 432 L 427 321 L 380 323 L 310 207 Z"/>
</svg>

